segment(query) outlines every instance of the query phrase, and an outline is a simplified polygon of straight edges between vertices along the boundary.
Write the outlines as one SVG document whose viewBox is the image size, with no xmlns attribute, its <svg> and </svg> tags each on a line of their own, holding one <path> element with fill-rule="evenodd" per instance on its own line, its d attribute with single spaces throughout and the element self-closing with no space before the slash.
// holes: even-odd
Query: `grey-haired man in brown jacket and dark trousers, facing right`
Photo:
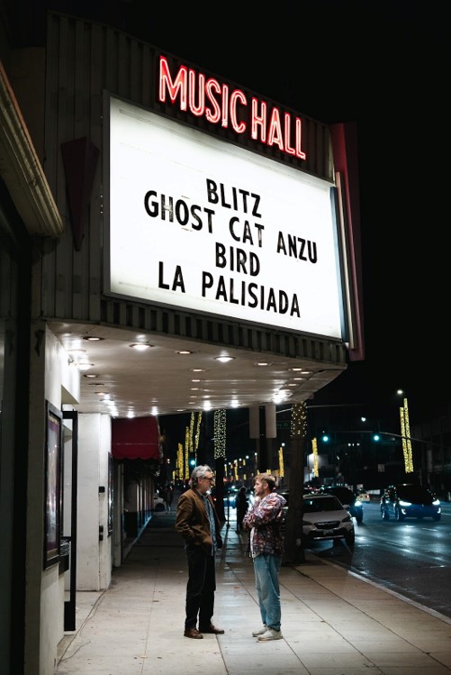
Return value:
<svg viewBox="0 0 451 675">
<path fill-rule="evenodd" d="M 176 531 L 185 539 L 188 560 L 184 635 L 194 640 L 202 639 L 203 633 L 224 633 L 212 624 L 215 553 L 222 548 L 221 523 L 210 497 L 213 483 L 209 466 L 196 467 L 191 474 L 190 488 L 179 497 L 176 511 Z"/>
</svg>

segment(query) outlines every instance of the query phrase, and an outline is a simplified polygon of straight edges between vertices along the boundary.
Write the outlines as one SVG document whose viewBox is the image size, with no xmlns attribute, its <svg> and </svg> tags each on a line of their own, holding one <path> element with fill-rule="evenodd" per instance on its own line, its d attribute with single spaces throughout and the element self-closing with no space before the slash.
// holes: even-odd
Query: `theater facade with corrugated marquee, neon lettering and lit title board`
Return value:
<svg viewBox="0 0 451 675">
<path fill-rule="evenodd" d="M 212 378 L 212 409 L 235 397 L 274 410 L 284 379 L 251 376 L 257 360 L 304 369 L 287 399 L 300 403 L 364 357 L 356 129 L 107 17 L 50 12 L 41 43 L 12 28 L 0 54 L 0 643 L 6 672 L 50 675 L 68 587 L 108 588 L 123 559 L 123 504 L 110 498 L 122 388 L 176 414 L 169 354 L 189 345 L 239 364 Z M 73 353 L 93 337 L 99 362 L 115 361 L 117 409 L 99 408 Z M 136 341 L 161 359 L 129 382 L 119 350 Z"/>
</svg>

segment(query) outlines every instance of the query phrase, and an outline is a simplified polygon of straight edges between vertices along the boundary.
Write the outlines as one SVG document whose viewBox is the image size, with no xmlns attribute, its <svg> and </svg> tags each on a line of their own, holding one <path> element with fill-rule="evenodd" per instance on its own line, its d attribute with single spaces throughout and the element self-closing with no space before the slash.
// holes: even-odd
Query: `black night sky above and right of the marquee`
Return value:
<svg viewBox="0 0 451 675">
<path fill-rule="evenodd" d="M 391 405 L 403 388 L 415 424 L 451 402 L 446 3 L 47 5 L 115 24 L 300 114 L 356 122 L 365 361 L 314 403 Z"/>
</svg>

